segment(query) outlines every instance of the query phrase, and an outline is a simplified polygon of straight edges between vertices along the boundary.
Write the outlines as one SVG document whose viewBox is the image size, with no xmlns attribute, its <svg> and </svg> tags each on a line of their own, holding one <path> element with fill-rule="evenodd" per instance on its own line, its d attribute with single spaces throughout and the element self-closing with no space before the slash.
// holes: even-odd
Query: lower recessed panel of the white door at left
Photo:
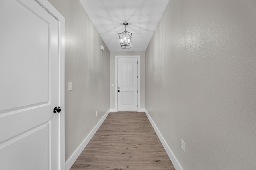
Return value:
<svg viewBox="0 0 256 170">
<path fill-rule="evenodd" d="M 38 139 L 36 143 L 34 142 L 35 138 Z M 29 170 L 33 168 L 36 170 L 49 169 L 49 150 L 45 149 L 49 147 L 48 140 L 49 124 L 45 123 L 6 141 L 2 144 L 0 152 L 0 169 L 25 170 L 25 167 Z M 22 156 L 17 153 L 22 153 Z M 40 159 L 37 156 L 39 154 Z"/>
</svg>

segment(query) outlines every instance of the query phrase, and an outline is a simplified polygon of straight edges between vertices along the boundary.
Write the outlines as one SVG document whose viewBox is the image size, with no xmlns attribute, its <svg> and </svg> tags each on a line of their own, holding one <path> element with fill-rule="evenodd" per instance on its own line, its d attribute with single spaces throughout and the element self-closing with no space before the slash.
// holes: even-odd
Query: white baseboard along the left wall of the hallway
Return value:
<svg viewBox="0 0 256 170">
<path fill-rule="evenodd" d="M 103 121 L 106 119 L 108 114 L 110 113 L 110 110 L 108 110 L 105 115 L 100 119 L 100 121 L 97 123 L 97 125 L 92 129 L 92 131 L 89 133 L 89 135 L 84 139 L 84 141 L 81 143 L 81 145 L 76 149 L 76 151 L 70 156 L 70 158 L 67 160 L 65 164 L 65 170 L 69 170 L 71 166 L 74 164 L 78 156 L 82 153 L 86 145 L 89 143 L 89 141 L 92 139 L 93 135 L 96 133 L 96 131 L 99 129 L 100 125 L 103 123 Z"/>
</svg>

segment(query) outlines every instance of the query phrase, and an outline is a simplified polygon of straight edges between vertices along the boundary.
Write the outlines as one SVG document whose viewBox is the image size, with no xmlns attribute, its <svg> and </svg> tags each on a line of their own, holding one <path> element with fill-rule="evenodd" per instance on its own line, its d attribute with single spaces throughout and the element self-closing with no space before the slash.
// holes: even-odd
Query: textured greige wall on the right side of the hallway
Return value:
<svg viewBox="0 0 256 170">
<path fill-rule="evenodd" d="M 256 1 L 170 0 L 145 59 L 146 110 L 182 168 L 255 170 Z"/>
</svg>

